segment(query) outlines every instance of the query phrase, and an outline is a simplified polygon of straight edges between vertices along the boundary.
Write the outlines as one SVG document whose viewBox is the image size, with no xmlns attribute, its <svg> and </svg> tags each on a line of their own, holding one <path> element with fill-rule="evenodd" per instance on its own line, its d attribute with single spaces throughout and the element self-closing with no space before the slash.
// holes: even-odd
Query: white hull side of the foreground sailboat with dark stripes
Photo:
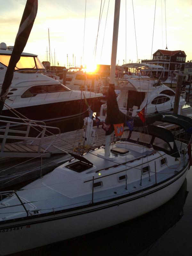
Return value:
<svg viewBox="0 0 192 256">
<path fill-rule="evenodd" d="M 0 227 L 0 255 L 7 255 L 84 235 L 131 220 L 169 201 L 180 189 L 188 170 L 151 188 L 79 209 L 6 221 Z M 14 242 L 13 242 L 14 241 Z"/>
</svg>

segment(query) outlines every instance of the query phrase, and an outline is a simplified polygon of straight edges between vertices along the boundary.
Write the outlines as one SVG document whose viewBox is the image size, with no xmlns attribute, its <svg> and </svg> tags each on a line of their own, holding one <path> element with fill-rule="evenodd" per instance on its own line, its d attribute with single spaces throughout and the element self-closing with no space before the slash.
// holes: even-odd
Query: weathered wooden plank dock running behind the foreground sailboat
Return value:
<svg viewBox="0 0 192 256">
<path fill-rule="evenodd" d="M 183 108 L 181 115 L 192 117 L 192 107 Z M 155 125 L 164 126 L 164 128 L 171 130 L 177 128 L 176 125 L 156 122 Z M 101 128 L 94 126 L 95 132 L 95 143 L 92 148 L 101 147 L 105 144 L 105 131 Z M 48 146 L 50 142 L 55 139 L 55 135 L 51 135 L 44 138 L 44 146 Z M 111 142 L 117 141 L 117 138 L 112 133 Z M 78 150 L 78 146 L 83 147 L 83 130 L 76 130 L 71 132 L 61 133 L 60 137 L 53 143 L 55 147 L 62 149 L 65 152 L 73 152 L 75 149 Z M 88 150 L 88 149 L 87 149 Z M 50 158 L 0 158 L 0 190 L 6 190 L 9 187 L 14 186 L 18 183 L 26 181 L 26 175 L 28 179 L 38 178 L 47 172 L 52 171 L 60 164 L 66 162 L 71 157 L 68 154 L 54 154 Z M 84 151 L 85 152 L 85 151 Z M 26 161 L 25 164 L 21 164 Z M 14 166 L 13 166 L 14 165 Z M 13 167 L 12 167 L 13 166 Z M 27 171 L 26 171 L 27 170 Z"/>
</svg>

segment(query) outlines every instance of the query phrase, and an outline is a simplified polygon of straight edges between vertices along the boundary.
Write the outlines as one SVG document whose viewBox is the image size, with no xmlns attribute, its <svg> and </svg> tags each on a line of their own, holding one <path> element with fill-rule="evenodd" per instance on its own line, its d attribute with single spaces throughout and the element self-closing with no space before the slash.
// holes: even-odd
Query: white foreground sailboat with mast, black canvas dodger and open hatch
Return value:
<svg viewBox="0 0 192 256">
<path fill-rule="evenodd" d="M 127 118 L 114 107 L 117 106 L 113 84 L 119 12 L 120 0 L 116 0 L 108 125 Z M 105 147 L 84 155 L 70 153 L 70 161 L 41 179 L 18 191 L 1 192 L 0 254 L 107 228 L 168 202 L 179 191 L 191 165 L 187 131 L 192 120 L 167 113 L 155 117 L 177 124 L 186 132 L 175 139 L 169 130 L 152 125 L 154 116 L 146 118 L 145 125 L 135 119 L 133 129 L 124 131 L 124 138 L 116 143 L 110 144 L 107 131 Z"/>
</svg>

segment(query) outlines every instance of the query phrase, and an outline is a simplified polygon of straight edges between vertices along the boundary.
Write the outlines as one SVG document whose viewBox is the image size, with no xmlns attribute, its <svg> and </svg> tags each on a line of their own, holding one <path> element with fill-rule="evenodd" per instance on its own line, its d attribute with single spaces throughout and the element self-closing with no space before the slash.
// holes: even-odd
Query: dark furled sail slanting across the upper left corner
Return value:
<svg viewBox="0 0 192 256">
<path fill-rule="evenodd" d="M 25 10 L 20 22 L 19 30 L 15 39 L 12 55 L 5 73 L 4 82 L 2 84 L 0 93 L 0 114 L 2 113 L 4 102 L 9 91 L 9 87 L 12 82 L 14 69 L 17 62 L 20 60 L 21 53 L 23 52 L 25 45 L 27 44 L 28 37 L 30 35 L 33 23 L 36 18 L 38 7 L 38 0 L 27 0 Z"/>
</svg>

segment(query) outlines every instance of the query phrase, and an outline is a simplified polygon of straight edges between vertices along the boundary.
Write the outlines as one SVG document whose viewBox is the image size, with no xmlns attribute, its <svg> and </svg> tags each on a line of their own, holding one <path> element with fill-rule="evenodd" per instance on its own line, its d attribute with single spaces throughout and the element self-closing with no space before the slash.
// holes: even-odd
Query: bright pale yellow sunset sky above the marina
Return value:
<svg viewBox="0 0 192 256">
<path fill-rule="evenodd" d="M 51 45 L 51 64 L 67 66 L 74 64 L 110 64 L 113 34 L 115 0 L 102 0 L 103 9 L 97 39 L 101 0 L 39 0 L 38 12 L 24 52 L 35 53 L 41 61 L 49 61 L 48 28 Z M 109 8 L 108 8 L 109 3 Z M 126 3 L 126 4 L 125 4 Z M 155 14 L 154 38 L 152 47 L 153 24 Z M 192 59 L 192 18 L 191 0 L 121 0 L 117 60 L 119 65 L 125 61 L 136 62 L 137 59 L 151 59 L 151 52 L 166 48 L 166 29 L 168 50 L 182 50 Z M 26 0 L 6 0 L 0 10 L 0 42 L 14 45 Z M 104 7 L 103 7 L 104 4 Z M 136 40 L 134 30 L 134 18 Z M 108 10 L 108 17 L 107 17 Z M 125 12 L 126 11 L 126 12 Z M 84 34 L 85 17 L 85 34 Z M 107 22 L 106 22 L 107 17 Z M 105 28 L 106 24 L 106 28 Z M 105 36 L 104 36 L 105 30 Z M 84 51 L 83 51 L 84 42 Z M 103 47 L 102 47 L 103 44 Z M 101 52 L 102 50 L 102 52 Z M 84 53 L 83 53 L 84 52 Z M 74 58 L 73 58 L 74 54 Z M 137 57 L 138 56 L 138 57 Z"/>
</svg>

